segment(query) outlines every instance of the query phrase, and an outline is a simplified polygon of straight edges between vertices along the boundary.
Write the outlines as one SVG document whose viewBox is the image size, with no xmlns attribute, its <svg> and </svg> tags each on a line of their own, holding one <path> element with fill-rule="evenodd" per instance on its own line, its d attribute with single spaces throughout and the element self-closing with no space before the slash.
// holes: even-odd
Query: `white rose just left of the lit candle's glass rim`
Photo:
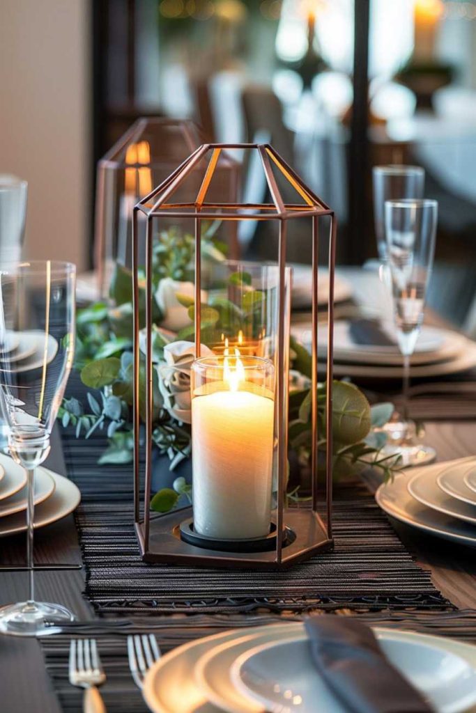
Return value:
<svg viewBox="0 0 476 713">
<path fill-rule="evenodd" d="M 213 354 L 201 344 L 201 356 Z M 190 372 L 195 359 L 193 342 L 171 342 L 163 347 L 163 362 L 157 366 L 158 388 L 163 396 L 163 407 L 174 419 L 190 424 Z"/>
</svg>

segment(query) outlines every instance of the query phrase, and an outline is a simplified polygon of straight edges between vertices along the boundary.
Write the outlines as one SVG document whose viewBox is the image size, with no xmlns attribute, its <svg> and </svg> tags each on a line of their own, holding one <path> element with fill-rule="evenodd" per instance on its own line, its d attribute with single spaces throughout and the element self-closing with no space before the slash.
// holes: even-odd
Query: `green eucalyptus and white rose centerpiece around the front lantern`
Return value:
<svg viewBox="0 0 476 713">
<path fill-rule="evenodd" d="M 217 225 L 202 237 L 203 256 L 211 262 L 226 259 L 225 247 L 216 240 Z M 171 486 L 160 488 L 151 507 L 164 512 L 178 499 L 191 498 L 190 478 L 179 471 L 191 456 L 190 371 L 195 358 L 192 235 L 170 229 L 153 247 L 153 443 L 158 456 L 168 458 Z M 238 311 L 226 299 L 201 295 L 202 338 L 213 343 L 216 334 L 238 334 L 265 299 L 246 280 L 246 274 L 231 275 L 243 289 L 245 309 Z M 110 289 L 111 304 L 97 302 L 77 314 L 76 368 L 88 389 L 87 405 L 75 398 L 64 399 L 59 417 L 63 425 L 74 426 L 76 436 L 89 438 L 98 429 L 106 431 L 108 446 L 99 463 L 129 463 L 133 460 L 133 342 L 132 275 L 116 266 Z M 145 291 L 140 299 L 145 314 Z M 239 312 L 239 314 L 238 314 Z M 145 335 L 141 332 L 141 352 Z M 212 354 L 202 345 L 202 355 Z M 293 371 L 290 382 L 289 444 L 298 463 L 301 479 L 290 487 L 288 497 L 298 499 L 305 490 L 305 473 L 310 459 L 310 374 L 308 351 L 294 339 L 290 343 Z M 146 364 L 140 368 L 140 401 L 144 401 Z M 393 412 L 392 404 L 370 405 L 359 389 L 345 381 L 335 381 L 333 389 L 333 472 L 336 478 L 355 473 L 371 464 L 385 478 L 398 467 L 395 456 L 383 456 L 385 434 L 379 431 Z M 143 414 L 141 414 L 143 416 Z M 320 432 L 325 433 L 325 384 L 318 386 Z M 325 439 L 318 443 L 324 468 Z M 178 477 L 176 477 L 176 475 Z"/>
</svg>

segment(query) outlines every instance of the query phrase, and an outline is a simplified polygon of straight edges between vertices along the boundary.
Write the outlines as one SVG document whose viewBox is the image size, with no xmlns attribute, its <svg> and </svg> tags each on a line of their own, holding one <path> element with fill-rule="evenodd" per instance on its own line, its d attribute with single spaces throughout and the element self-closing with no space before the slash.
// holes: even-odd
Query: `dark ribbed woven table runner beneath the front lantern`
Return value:
<svg viewBox="0 0 476 713">
<path fill-rule="evenodd" d="M 82 493 L 76 523 L 86 597 L 100 615 L 445 609 L 450 602 L 412 560 L 362 483 L 338 488 L 335 550 L 276 572 L 143 563 L 133 530 L 132 466 L 98 466 L 106 439 L 64 431 L 69 477 Z"/>
</svg>

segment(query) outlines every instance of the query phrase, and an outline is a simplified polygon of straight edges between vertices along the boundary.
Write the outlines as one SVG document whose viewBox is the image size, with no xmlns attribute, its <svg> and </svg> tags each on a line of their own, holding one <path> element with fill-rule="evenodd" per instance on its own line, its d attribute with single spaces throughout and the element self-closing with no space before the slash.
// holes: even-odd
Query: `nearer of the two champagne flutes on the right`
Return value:
<svg viewBox="0 0 476 713">
<path fill-rule="evenodd" d="M 385 238 L 392 281 L 393 314 L 397 342 L 403 356 L 402 422 L 388 424 L 404 466 L 427 463 L 435 458 L 434 448 L 413 443 L 415 427 L 408 420 L 410 356 L 415 351 L 423 322 L 425 297 L 435 255 L 438 217 L 436 200 L 385 201 Z M 400 441 L 396 443 L 396 441 Z"/>
</svg>

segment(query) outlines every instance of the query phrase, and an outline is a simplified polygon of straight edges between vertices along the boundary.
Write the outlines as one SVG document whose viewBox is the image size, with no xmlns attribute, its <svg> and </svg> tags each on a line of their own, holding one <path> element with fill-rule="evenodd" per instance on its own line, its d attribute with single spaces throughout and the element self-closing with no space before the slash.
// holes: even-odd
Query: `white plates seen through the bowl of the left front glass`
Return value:
<svg viewBox="0 0 476 713">
<path fill-rule="evenodd" d="M 47 335 L 45 344 L 45 334 L 39 329 L 9 332 L 0 351 L 0 371 L 19 373 L 41 369 L 44 366 L 45 353 L 46 364 L 49 364 L 55 358 L 56 352 L 58 352 L 58 342 L 51 334 Z"/>
</svg>

